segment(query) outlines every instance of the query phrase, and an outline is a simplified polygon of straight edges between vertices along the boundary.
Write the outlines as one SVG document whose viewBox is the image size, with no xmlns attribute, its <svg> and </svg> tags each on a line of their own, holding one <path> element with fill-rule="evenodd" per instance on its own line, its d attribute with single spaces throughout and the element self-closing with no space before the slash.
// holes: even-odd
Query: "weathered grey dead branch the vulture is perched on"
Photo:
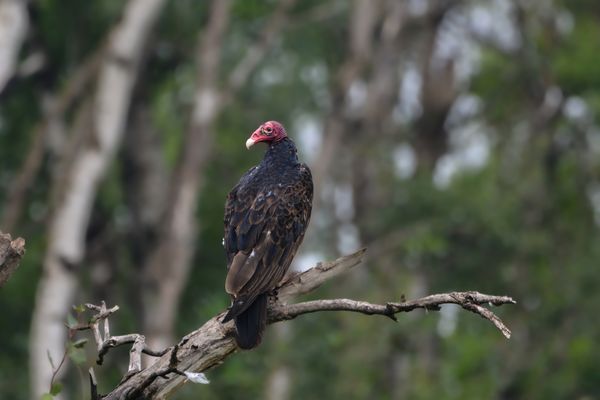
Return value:
<svg viewBox="0 0 600 400">
<path fill-rule="evenodd" d="M 514 304 L 515 301 L 506 296 L 490 296 L 478 292 L 434 294 L 421 299 L 387 304 L 371 304 L 348 299 L 285 304 L 293 296 L 310 292 L 326 280 L 360 264 L 364 254 L 365 249 L 361 249 L 335 261 L 319 263 L 314 268 L 285 280 L 278 290 L 278 299 L 269 306 L 269 323 L 318 311 L 352 311 L 368 315 L 383 315 L 395 320 L 395 314 L 400 312 L 409 312 L 418 308 L 439 310 L 442 304 L 457 304 L 490 320 L 507 338 L 510 336 L 510 330 L 502 321 L 482 305 Z M 221 323 L 223 314 L 211 318 L 199 329 L 183 337 L 151 366 L 138 373 L 128 374 L 127 379 L 124 379 L 103 399 L 167 398 L 186 380 L 195 380 L 194 373 L 206 371 L 222 363 L 227 356 L 237 350 L 233 322 Z"/>
</svg>

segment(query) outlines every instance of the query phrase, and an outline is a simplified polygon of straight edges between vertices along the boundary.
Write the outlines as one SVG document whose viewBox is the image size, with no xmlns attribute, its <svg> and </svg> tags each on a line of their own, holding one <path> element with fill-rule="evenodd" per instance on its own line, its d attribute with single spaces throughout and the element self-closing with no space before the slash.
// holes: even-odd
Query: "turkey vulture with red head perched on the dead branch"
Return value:
<svg viewBox="0 0 600 400">
<path fill-rule="evenodd" d="M 225 290 L 232 304 L 223 322 L 235 320 L 242 349 L 260 343 L 268 295 L 286 274 L 312 209 L 310 169 L 298 162 L 296 146 L 284 127 L 265 122 L 246 147 L 258 142 L 269 145 L 262 162 L 242 176 L 225 203 Z"/>
</svg>

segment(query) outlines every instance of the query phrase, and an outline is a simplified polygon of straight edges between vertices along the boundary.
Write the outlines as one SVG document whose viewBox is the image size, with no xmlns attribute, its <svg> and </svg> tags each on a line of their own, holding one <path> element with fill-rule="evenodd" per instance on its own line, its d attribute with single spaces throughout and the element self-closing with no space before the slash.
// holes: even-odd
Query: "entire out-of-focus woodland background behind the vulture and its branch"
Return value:
<svg viewBox="0 0 600 400">
<path fill-rule="evenodd" d="M 0 398 L 49 390 L 72 305 L 156 347 L 228 305 L 223 203 L 269 119 L 315 179 L 296 267 L 368 247 L 313 298 L 506 294 L 513 337 L 455 307 L 307 315 L 175 399 L 600 398 L 599 22 L 596 0 L 0 0 L 0 229 L 27 241 Z M 61 398 L 93 347 L 67 346 Z M 111 352 L 100 391 L 126 368 Z"/>
</svg>

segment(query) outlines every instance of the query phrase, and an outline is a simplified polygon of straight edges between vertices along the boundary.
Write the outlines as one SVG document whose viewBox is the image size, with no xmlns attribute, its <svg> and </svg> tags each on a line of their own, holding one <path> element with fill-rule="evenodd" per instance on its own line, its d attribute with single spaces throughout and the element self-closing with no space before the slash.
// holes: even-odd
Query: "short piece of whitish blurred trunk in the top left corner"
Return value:
<svg viewBox="0 0 600 400">
<path fill-rule="evenodd" d="M 0 0 L 0 92 L 13 76 L 29 20 L 25 0 Z"/>
</svg>

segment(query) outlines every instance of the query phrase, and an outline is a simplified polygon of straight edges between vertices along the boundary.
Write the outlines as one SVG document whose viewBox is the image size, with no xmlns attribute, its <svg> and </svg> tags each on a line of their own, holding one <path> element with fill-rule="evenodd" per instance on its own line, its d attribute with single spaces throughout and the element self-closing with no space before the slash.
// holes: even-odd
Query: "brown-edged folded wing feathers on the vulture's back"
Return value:
<svg viewBox="0 0 600 400">
<path fill-rule="evenodd" d="M 308 167 L 299 165 L 291 184 L 264 187 L 256 192 L 234 188 L 227 197 L 224 244 L 229 271 L 225 289 L 235 298 L 229 318 L 277 286 L 310 219 L 313 185 Z"/>
</svg>

